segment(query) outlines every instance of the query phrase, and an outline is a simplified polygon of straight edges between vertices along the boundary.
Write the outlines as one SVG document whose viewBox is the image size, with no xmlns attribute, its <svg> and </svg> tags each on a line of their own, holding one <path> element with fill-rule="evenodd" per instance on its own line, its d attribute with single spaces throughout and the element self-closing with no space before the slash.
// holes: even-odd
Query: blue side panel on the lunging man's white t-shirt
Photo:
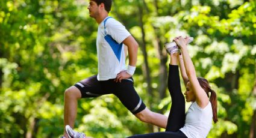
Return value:
<svg viewBox="0 0 256 138">
<path fill-rule="evenodd" d="M 111 35 L 105 35 L 104 38 L 108 42 L 108 44 L 110 45 L 110 47 L 112 48 L 112 50 L 114 52 L 114 55 L 116 55 L 116 58 L 120 62 L 123 43 L 118 44 L 117 41 L 111 37 Z"/>
</svg>

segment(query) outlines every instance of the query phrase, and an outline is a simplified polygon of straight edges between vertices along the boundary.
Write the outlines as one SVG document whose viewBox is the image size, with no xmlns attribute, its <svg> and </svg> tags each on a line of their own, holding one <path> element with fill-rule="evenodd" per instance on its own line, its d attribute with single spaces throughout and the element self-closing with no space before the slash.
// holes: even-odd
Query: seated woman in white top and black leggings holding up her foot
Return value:
<svg viewBox="0 0 256 138">
<path fill-rule="evenodd" d="M 165 132 L 140 134 L 131 137 L 207 137 L 211 129 L 212 119 L 217 122 L 217 100 L 208 81 L 196 77 L 195 67 L 187 51 L 189 37 L 176 37 L 178 47 L 168 47 L 170 54 L 168 89 L 172 98 L 172 106 Z M 180 52 L 181 56 L 179 58 Z M 185 100 L 181 92 L 178 63 L 180 62 L 181 76 L 186 84 L 186 101 L 192 101 L 185 114 Z M 209 93 L 210 101 L 209 101 Z"/>
</svg>

